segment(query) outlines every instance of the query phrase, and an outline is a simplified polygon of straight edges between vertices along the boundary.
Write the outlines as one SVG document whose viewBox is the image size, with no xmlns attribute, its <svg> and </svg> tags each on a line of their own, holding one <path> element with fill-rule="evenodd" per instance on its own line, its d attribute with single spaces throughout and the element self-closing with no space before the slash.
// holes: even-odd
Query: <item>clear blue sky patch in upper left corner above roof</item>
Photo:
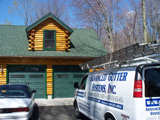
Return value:
<svg viewBox="0 0 160 120">
<path fill-rule="evenodd" d="M 5 23 L 5 19 L 13 25 L 24 25 L 23 19 L 17 15 L 8 14 L 8 7 L 12 6 L 14 0 L 0 0 L 0 24 Z"/>
</svg>

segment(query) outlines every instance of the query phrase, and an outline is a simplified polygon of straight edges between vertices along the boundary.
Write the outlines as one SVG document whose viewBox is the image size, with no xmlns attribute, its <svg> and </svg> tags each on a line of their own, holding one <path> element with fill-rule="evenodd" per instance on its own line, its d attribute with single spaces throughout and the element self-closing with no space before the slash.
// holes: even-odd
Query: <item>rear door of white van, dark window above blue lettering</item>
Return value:
<svg viewBox="0 0 160 120">
<path fill-rule="evenodd" d="M 160 120 L 160 66 L 143 69 L 145 112 L 143 119 Z"/>
</svg>

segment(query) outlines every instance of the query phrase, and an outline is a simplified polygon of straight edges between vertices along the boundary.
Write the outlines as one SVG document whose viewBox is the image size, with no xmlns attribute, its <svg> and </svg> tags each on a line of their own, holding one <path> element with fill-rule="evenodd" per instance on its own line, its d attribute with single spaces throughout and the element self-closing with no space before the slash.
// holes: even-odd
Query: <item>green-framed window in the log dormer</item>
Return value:
<svg viewBox="0 0 160 120">
<path fill-rule="evenodd" d="M 43 50 L 56 50 L 56 31 L 43 31 Z"/>
</svg>

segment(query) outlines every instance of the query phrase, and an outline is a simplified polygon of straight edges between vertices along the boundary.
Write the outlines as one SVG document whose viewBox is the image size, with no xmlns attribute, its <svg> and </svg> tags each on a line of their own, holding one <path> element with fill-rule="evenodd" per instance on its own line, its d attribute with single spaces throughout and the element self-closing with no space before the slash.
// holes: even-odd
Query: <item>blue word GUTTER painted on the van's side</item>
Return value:
<svg viewBox="0 0 160 120">
<path fill-rule="evenodd" d="M 126 81 L 128 73 L 122 72 L 122 73 L 110 73 L 108 76 L 108 81 Z"/>
</svg>

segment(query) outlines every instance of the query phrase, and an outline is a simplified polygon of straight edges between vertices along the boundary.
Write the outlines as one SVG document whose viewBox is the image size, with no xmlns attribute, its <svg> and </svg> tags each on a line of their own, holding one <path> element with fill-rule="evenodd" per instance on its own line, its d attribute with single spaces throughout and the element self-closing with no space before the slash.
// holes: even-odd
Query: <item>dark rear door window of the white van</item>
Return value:
<svg viewBox="0 0 160 120">
<path fill-rule="evenodd" d="M 145 96 L 160 97 L 160 68 L 145 70 Z"/>
</svg>

